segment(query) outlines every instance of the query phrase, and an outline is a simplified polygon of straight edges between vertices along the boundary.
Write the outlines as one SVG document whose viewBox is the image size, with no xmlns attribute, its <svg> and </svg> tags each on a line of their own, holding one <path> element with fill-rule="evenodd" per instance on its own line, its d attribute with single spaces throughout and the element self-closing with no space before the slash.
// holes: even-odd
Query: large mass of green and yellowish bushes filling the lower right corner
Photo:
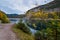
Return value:
<svg viewBox="0 0 60 40">
<path fill-rule="evenodd" d="M 36 40 L 60 40 L 60 20 L 49 20 L 46 28 L 35 33 Z"/>
</svg>

